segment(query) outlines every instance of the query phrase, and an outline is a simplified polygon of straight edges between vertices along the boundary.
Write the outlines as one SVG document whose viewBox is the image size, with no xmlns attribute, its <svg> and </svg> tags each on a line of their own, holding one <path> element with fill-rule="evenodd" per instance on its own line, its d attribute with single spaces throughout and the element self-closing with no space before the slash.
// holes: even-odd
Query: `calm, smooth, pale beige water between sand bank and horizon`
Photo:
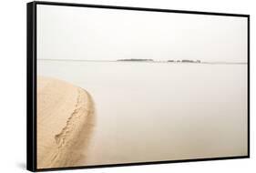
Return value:
<svg viewBox="0 0 256 173">
<path fill-rule="evenodd" d="M 37 74 L 94 99 L 81 165 L 247 155 L 247 65 L 38 60 Z"/>
</svg>

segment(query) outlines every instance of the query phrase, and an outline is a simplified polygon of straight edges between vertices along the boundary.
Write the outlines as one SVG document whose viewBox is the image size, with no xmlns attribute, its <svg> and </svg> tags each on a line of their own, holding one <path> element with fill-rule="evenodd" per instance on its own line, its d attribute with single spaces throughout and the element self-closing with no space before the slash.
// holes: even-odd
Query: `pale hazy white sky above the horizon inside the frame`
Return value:
<svg viewBox="0 0 256 173">
<path fill-rule="evenodd" d="M 247 18 L 37 5 L 37 58 L 247 62 Z"/>
</svg>

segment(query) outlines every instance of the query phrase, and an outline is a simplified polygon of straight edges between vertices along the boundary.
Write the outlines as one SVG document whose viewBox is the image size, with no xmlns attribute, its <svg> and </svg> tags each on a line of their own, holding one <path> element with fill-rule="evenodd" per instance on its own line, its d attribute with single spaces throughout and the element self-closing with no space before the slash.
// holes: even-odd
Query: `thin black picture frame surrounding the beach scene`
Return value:
<svg viewBox="0 0 256 173">
<path fill-rule="evenodd" d="M 237 157 L 223 157 L 223 158 L 194 158 L 183 160 L 162 160 L 153 162 L 138 162 L 138 163 L 125 163 L 125 164 L 108 164 L 108 165 L 95 165 L 83 167 L 68 167 L 68 168 L 36 168 L 36 5 L 65 5 L 76 7 L 94 7 L 94 8 L 108 8 L 108 9 L 121 9 L 121 10 L 138 10 L 149 12 L 166 12 L 166 13 L 179 13 L 179 14 L 196 14 L 196 15 L 223 15 L 223 16 L 238 16 L 247 18 L 247 75 L 248 75 L 248 155 Z M 26 168 L 30 171 L 46 171 L 46 170 L 65 170 L 77 168 L 108 168 L 108 167 L 122 167 L 122 166 L 138 166 L 149 164 L 167 164 L 178 162 L 191 162 L 191 161 L 207 161 L 207 160 L 222 160 L 222 159 L 235 159 L 235 158 L 250 158 L 250 15 L 241 14 L 226 14 L 226 13 L 212 13 L 212 12 L 199 12 L 199 11 L 184 11 L 184 10 L 170 10 L 170 9 L 156 9 L 156 8 L 143 8 L 143 7 L 130 7 L 130 6 L 113 6 L 113 5 L 84 5 L 73 3 L 56 3 L 56 2 L 31 2 L 27 3 L 26 7 L 26 36 L 27 36 L 27 67 L 26 67 Z"/>
</svg>

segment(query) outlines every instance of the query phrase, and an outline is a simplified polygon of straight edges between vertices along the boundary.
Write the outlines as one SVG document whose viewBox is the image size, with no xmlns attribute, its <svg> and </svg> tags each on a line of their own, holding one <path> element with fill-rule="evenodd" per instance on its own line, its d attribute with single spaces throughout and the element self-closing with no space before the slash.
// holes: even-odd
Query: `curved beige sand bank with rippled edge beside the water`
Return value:
<svg viewBox="0 0 256 173">
<path fill-rule="evenodd" d="M 92 98 L 84 89 L 37 77 L 37 168 L 76 167 L 95 124 Z M 81 152 L 83 151 L 83 152 Z"/>
</svg>

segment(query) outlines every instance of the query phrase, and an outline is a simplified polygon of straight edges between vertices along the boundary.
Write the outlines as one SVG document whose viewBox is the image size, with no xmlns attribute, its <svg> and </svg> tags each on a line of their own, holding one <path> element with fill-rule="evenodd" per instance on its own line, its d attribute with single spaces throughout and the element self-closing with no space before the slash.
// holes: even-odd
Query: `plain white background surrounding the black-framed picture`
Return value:
<svg viewBox="0 0 256 173">
<path fill-rule="evenodd" d="M 251 15 L 251 158 L 123 168 L 87 172 L 252 172 L 256 168 L 254 60 L 256 3 L 253 0 L 61 0 L 62 2 L 128 5 Z M 0 4 L 0 172 L 26 172 L 26 1 Z M 85 172 L 85 170 L 76 170 Z M 72 170 L 66 172 L 73 172 Z"/>
</svg>

